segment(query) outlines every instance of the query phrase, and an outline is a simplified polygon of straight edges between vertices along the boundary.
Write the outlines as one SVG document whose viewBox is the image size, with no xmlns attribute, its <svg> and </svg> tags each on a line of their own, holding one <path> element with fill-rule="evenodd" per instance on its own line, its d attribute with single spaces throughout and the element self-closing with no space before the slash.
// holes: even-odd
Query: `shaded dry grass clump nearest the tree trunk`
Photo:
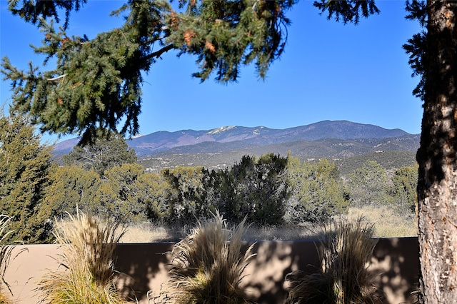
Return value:
<svg viewBox="0 0 457 304">
<path fill-rule="evenodd" d="M 326 232 L 320 247 L 321 269 L 313 274 L 289 274 L 286 280 L 291 288 L 286 304 L 384 303 L 368 268 L 376 245 L 373 227 L 363 225 L 359 218 L 340 221 Z"/>
</svg>

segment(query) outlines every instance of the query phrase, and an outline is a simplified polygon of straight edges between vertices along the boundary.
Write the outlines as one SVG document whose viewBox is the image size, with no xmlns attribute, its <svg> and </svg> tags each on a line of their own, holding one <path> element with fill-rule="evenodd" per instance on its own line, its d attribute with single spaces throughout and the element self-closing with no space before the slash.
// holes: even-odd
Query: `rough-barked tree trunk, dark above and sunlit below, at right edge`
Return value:
<svg viewBox="0 0 457 304">
<path fill-rule="evenodd" d="M 423 303 L 457 300 L 457 2 L 427 4 L 425 98 L 418 150 Z"/>
</svg>

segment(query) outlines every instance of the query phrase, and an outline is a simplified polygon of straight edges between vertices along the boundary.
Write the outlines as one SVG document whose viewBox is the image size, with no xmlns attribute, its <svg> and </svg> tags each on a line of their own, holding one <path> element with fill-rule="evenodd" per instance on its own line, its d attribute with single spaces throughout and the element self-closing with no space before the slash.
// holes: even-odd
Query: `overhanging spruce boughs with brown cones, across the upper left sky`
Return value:
<svg viewBox="0 0 457 304">
<path fill-rule="evenodd" d="M 68 3 L 67 3 L 68 2 Z M 139 131 L 142 73 L 172 49 L 197 56 L 202 81 L 216 71 L 216 80 L 236 81 L 240 66 L 255 62 L 262 78 L 283 52 L 290 23 L 286 11 L 293 0 L 127 1 L 114 14 L 126 13 L 125 23 L 94 39 L 54 29 L 59 9 L 78 10 L 85 0 L 11 1 L 9 9 L 44 32 L 37 53 L 55 59 L 54 69 L 16 69 L 6 57 L 1 73 L 13 88 L 14 108 L 32 113 L 41 131 L 82 133 L 91 141 L 98 128 L 135 135 Z M 159 46 L 159 49 L 157 49 Z M 53 61 L 54 62 L 54 61 Z"/>
</svg>

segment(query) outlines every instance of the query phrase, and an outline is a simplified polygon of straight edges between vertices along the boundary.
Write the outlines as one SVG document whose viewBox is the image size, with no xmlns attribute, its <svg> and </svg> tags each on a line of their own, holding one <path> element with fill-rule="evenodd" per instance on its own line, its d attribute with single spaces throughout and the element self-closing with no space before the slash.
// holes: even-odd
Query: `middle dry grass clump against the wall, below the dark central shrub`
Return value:
<svg viewBox="0 0 457 304">
<path fill-rule="evenodd" d="M 241 255 L 245 222 L 228 229 L 219 213 L 199 222 L 171 252 L 167 295 L 176 304 L 249 303 L 239 287 L 253 256 L 252 245 Z"/>
</svg>

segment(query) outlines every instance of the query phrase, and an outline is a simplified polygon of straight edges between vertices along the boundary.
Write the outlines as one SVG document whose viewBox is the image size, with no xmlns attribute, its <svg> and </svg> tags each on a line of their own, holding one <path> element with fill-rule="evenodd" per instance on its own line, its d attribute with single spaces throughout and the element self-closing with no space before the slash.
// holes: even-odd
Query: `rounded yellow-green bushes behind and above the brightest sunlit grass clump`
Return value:
<svg viewBox="0 0 457 304">
<path fill-rule="evenodd" d="M 159 195 L 153 193 L 160 189 L 149 188 L 155 185 L 146 176 L 149 174 L 138 164 L 114 166 L 105 171 L 104 179 L 93 170 L 62 166 L 51 173 L 45 201 L 57 218 L 66 213 L 75 215 L 79 208 L 89 214 L 109 214 L 126 223 L 146 221 L 154 200 L 158 200 Z"/>
</svg>

